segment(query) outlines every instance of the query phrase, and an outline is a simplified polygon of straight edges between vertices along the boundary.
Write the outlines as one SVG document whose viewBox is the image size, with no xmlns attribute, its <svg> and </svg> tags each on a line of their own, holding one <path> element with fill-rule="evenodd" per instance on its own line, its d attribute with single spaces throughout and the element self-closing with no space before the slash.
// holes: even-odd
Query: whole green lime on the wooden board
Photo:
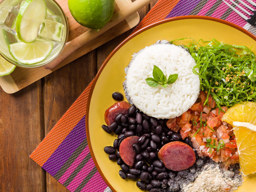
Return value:
<svg viewBox="0 0 256 192">
<path fill-rule="evenodd" d="M 115 0 L 68 0 L 68 8 L 84 27 L 100 29 L 111 19 Z"/>
</svg>

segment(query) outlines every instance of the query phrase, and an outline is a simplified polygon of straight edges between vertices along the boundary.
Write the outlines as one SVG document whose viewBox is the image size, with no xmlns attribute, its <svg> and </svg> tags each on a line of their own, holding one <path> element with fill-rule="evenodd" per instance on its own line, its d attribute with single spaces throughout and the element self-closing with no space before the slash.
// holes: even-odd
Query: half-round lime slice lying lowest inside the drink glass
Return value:
<svg viewBox="0 0 256 192">
<path fill-rule="evenodd" d="M 35 64 L 43 61 L 52 51 L 51 42 L 34 41 L 32 43 L 9 44 L 12 57 L 23 64 Z"/>
</svg>

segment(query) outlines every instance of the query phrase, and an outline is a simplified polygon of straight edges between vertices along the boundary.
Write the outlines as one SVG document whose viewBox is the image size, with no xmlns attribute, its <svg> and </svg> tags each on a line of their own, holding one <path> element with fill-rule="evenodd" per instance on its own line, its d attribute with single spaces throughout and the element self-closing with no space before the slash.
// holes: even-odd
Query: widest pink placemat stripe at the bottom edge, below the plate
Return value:
<svg viewBox="0 0 256 192">
<path fill-rule="evenodd" d="M 81 192 L 103 192 L 108 185 L 105 183 L 105 181 L 100 176 L 99 172 L 96 172 L 92 179 L 89 180 L 89 182 L 84 186 L 84 188 L 81 190 Z M 131 191 L 132 192 L 132 191 Z"/>
</svg>

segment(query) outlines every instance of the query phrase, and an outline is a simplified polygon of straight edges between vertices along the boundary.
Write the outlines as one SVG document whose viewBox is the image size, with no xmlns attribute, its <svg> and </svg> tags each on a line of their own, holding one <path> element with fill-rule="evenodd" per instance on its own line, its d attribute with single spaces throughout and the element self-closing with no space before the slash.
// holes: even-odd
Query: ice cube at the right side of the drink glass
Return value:
<svg viewBox="0 0 256 192">
<path fill-rule="evenodd" d="M 53 41 L 61 41 L 64 30 L 62 23 L 53 20 L 43 20 L 40 25 L 38 36 Z"/>
</svg>

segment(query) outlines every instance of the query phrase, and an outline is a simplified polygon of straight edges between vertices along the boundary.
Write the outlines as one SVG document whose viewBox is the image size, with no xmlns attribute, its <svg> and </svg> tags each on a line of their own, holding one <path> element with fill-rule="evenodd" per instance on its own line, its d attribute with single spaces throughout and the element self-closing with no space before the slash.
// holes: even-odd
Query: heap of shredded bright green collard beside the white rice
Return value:
<svg viewBox="0 0 256 192">
<path fill-rule="evenodd" d="M 248 47 L 216 39 L 196 42 L 192 38 L 181 38 L 170 43 L 184 39 L 192 41 L 182 47 L 188 49 L 196 61 L 193 72 L 200 77 L 200 89 L 208 93 L 205 103 L 209 94 L 219 108 L 248 100 L 256 102 L 256 56 Z"/>
</svg>

